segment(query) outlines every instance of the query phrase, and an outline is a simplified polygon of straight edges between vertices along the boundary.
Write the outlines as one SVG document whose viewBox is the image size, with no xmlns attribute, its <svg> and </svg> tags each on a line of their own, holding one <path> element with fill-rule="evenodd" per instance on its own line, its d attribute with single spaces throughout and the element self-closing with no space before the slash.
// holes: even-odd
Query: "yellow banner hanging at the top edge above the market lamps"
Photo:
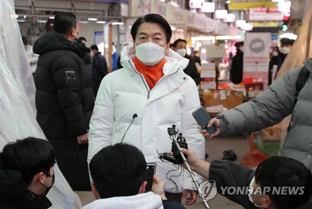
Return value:
<svg viewBox="0 0 312 209">
<path fill-rule="evenodd" d="M 275 8 L 276 2 L 272 0 L 231 0 L 229 4 L 230 10 L 249 9 L 253 7 L 271 7 Z"/>
</svg>

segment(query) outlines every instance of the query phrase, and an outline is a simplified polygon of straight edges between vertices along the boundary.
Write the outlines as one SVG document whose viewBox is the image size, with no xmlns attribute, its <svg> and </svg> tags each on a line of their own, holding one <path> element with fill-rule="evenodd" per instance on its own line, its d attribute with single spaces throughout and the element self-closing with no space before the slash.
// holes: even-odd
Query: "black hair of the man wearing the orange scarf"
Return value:
<svg viewBox="0 0 312 209">
<path fill-rule="evenodd" d="M 171 27 L 169 23 L 167 22 L 167 20 L 165 20 L 163 16 L 158 15 L 158 14 L 145 15 L 144 17 L 140 17 L 133 23 L 131 27 L 131 36 L 133 40 L 135 40 L 135 37 L 139 30 L 140 25 L 143 24 L 144 22 L 159 24 L 163 28 L 163 31 L 165 32 L 167 43 L 170 41 L 171 35 L 172 35 Z"/>
</svg>

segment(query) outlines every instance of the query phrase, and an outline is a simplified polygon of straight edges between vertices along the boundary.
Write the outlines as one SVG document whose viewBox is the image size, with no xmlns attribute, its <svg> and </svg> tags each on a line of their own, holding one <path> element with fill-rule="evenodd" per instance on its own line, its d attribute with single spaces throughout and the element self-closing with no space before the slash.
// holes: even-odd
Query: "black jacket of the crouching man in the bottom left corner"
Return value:
<svg viewBox="0 0 312 209">
<path fill-rule="evenodd" d="M 0 153 L 0 208 L 45 209 L 52 203 L 28 190 L 19 171 L 3 169 Z"/>
</svg>

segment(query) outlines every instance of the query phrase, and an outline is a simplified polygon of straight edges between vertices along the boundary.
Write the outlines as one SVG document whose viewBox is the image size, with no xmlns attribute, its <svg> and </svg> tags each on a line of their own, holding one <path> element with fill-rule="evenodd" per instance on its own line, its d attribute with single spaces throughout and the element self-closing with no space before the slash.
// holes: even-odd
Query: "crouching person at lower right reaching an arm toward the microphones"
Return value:
<svg viewBox="0 0 312 209">
<path fill-rule="evenodd" d="M 254 171 L 229 160 L 208 163 L 198 158 L 190 148 L 181 150 L 188 156 L 192 171 L 208 179 L 217 193 L 245 209 L 300 208 L 312 195 L 312 173 L 293 158 L 270 157 Z M 185 168 L 184 163 L 182 167 Z M 209 191 L 211 193 L 212 189 Z"/>
</svg>

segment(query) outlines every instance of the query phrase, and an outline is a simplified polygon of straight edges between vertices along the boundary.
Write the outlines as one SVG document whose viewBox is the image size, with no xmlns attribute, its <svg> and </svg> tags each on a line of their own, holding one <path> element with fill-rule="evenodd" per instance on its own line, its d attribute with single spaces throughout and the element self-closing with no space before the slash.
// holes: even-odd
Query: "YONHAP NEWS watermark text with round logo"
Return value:
<svg viewBox="0 0 312 209">
<path fill-rule="evenodd" d="M 202 182 L 200 185 L 205 200 L 210 200 L 217 194 L 217 185 L 214 180 Z M 305 187 L 220 187 L 220 194 L 225 195 L 248 195 L 256 193 L 259 195 L 302 195 Z"/>
</svg>

